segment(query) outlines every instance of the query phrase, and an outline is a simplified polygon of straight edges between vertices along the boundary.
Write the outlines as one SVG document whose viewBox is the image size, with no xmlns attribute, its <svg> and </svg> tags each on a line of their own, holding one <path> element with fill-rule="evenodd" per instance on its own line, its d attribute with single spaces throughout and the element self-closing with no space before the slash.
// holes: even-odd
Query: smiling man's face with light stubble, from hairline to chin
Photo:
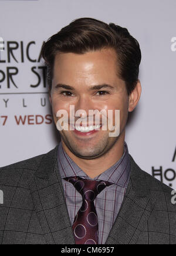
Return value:
<svg viewBox="0 0 176 256">
<path fill-rule="evenodd" d="M 58 110 L 66 110 L 70 128 L 70 105 L 77 110 L 84 110 L 87 114 L 87 125 L 89 126 L 89 110 L 103 110 L 107 113 L 107 124 L 109 122 L 108 110 L 113 110 L 113 124 L 115 125 L 115 110 L 120 110 L 120 134 L 110 137 L 112 132 L 108 129 L 96 131 L 89 135 L 77 134 L 73 130 L 62 130 L 60 136 L 62 143 L 75 156 L 83 159 L 96 159 L 109 152 L 119 140 L 127 122 L 128 95 L 126 85 L 117 75 L 117 56 L 114 49 L 102 49 L 96 52 L 87 52 L 82 55 L 75 53 L 58 53 L 55 57 L 53 68 L 52 90 L 50 102 L 52 104 L 53 119 L 55 124 L 61 117 L 56 117 Z M 73 89 L 63 89 L 57 85 L 69 85 Z M 96 85 L 111 85 L 101 89 L 90 90 Z M 103 113 L 103 112 L 101 112 Z M 73 115 L 72 115 L 73 116 Z M 75 117 L 76 120 L 79 116 Z M 100 124 L 103 116 L 100 115 Z M 95 124 L 95 119 L 93 124 Z"/>
</svg>

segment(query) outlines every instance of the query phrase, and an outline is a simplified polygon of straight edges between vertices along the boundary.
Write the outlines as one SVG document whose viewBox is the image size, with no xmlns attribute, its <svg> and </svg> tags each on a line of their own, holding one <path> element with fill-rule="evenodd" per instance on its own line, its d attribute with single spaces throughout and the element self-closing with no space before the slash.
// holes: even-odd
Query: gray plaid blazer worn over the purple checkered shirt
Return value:
<svg viewBox="0 0 176 256">
<path fill-rule="evenodd" d="M 75 244 L 57 147 L 0 168 L 0 244 Z M 130 160 L 127 192 L 106 244 L 176 244 L 171 188 Z"/>
</svg>

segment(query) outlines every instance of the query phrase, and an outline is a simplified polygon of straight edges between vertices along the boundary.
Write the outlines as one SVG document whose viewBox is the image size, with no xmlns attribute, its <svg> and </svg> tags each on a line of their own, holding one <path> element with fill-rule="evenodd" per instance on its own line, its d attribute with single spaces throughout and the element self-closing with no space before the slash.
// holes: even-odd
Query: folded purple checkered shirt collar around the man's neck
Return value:
<svg viewBox="0 0 176 256">
<path fill-rule="evenodd" d="M 83 178 L 89 178 L 77 164 L 70 159 L 65 150 L 62 147 L 62 142 L 59 143 L 57 151 L 57 163 L 59 166 L 61 178 L 79 176 Z M 124 153 L 119 161 L 117 161 L 109 169 L 101 173 L 99 176 L 92 180 L 104 180 L 117 184 L 121 187 L 127 187 L 130 178 L 130 157 L 128 154 L 127 143 L 124 142 Z"/>
</svg>

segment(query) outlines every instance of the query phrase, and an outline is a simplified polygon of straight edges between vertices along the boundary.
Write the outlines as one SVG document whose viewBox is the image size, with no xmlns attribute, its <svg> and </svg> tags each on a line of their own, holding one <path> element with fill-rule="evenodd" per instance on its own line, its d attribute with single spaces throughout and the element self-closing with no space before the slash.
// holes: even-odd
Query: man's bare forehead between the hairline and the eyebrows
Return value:
<svg viewBox="0 0 176 256">
<path fill-rule="evenodd" d="M 112 75 L 117 73 L 117 54 L 114 49 L 106 48 L 84 54 L 57 53 L 54 63 L 54 76 Z"/>
</svg>

